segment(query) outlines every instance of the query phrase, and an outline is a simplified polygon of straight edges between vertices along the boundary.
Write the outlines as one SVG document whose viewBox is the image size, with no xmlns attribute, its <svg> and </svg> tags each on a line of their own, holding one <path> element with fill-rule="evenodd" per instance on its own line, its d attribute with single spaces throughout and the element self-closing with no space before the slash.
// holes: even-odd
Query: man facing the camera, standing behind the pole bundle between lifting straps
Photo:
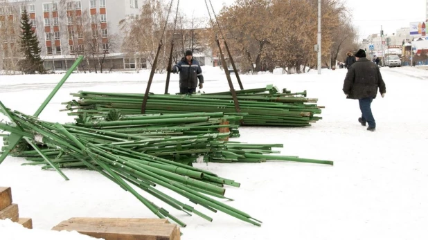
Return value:
<svg viewBox="0 0 428 240">
<path fill-rule="evenodd" d="M 199 80 L 199 89 L 204 86 L 204 75 L 202 69 L 195 59 L 191 50 L 186 50 L 185 57 L 172 67 L 172 73 L 180 72 L 180 93 L 195 93 L 197 80 Z"/>
</svg>

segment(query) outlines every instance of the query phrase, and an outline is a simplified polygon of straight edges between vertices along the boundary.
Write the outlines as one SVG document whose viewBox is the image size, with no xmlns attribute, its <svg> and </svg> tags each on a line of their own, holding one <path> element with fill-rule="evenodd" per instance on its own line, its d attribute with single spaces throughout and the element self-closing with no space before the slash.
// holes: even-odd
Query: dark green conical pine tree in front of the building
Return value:
<svg viewBox="0 0 428 240">
<path fill-rule="evenodd" d="M 42 48 L 39 47 L 39 40 L 35 34 L 33 22 L 26 9 L 21 15 L 21 50 L 25 59 L 21 62 L 21 69 L 24 73 L 33 74 L 35 71 L 44 73 L 43 60 L 40 57 Z"/>
</svg>

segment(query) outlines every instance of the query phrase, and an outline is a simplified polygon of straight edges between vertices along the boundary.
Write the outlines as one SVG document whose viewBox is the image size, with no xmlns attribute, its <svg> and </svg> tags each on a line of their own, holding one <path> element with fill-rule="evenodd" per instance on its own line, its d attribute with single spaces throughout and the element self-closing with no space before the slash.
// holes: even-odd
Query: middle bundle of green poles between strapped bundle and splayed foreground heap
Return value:
<svg viewBox="0 0 428 240">
<path fill-rule="evenodd" d="M 107 115 L 80 115 L 76 125 L 116 133 L 132 133 L 139 136 L 188 136 L 218 133 L 227 129 L 229 137 L 239 137 L 238 124 L 242 116 L 224 116 L 223 113 L 176 113 L 123 116 L 110 109 Z M 225 131 L 225 130 L 224 130 Z"/>
</svg>

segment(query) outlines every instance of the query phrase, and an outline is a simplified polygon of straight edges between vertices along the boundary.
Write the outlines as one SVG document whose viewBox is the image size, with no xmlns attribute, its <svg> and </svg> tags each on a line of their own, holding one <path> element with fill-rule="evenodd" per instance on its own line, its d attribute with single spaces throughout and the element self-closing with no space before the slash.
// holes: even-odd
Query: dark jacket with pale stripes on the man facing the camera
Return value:
<svg viewBox="0 0 428 240">
<path fill-rule="evenodd" d="M 172 67 L 172 73 L 180 72 L 180 88 L 194 89 L 199 83 L 204 83 L 204 75 L 197 60 L 192 58 L 192 63 L 189 65 L 185 57 L 181 58 L 180 62 Z"/>
</svg>

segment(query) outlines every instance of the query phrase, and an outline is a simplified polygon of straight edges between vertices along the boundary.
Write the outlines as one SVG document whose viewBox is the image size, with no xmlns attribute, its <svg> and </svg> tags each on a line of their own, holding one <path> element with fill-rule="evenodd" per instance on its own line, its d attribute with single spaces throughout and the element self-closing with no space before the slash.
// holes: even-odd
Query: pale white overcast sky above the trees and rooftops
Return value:
<svg viewBox="0 0 428 240">
<path fill-rule="evenodd" d="M 392 35 L 402 27 L 409 27 L 412 21 L 425 21 L 427 3 L 425 0 L 339 0 L 346 4 L 353 16 L 353 24 L 359 32 L 359 39 L 372 33 L 380 33 L 382 25 L 385 34 Z M 230 6 L 234 0 L 211 0 L 215 13 L 222 6 Z M 175 1 L 175 4 L 177 2 Z M 209 3 L 208 3 L 209 4 Z M 189 17 L 208 17 L 204 0 L 180 0 L 180 8 Z"/>
</svg>

